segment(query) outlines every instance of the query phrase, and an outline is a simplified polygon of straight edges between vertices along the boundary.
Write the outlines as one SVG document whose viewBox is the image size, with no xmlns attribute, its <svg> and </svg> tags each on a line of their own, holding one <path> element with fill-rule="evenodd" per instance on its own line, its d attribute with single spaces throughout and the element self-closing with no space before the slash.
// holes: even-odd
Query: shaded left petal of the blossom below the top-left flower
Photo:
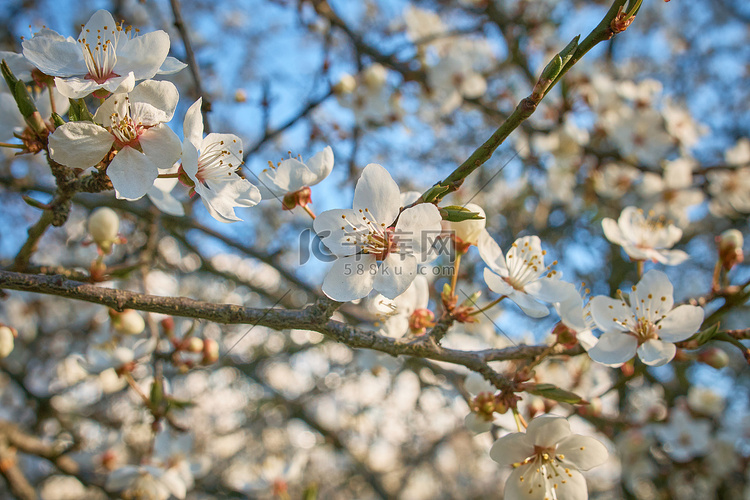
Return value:
<svg viewBox="0 0 750 500">
<path fill-rule="evenodd" d="M 68 122 L 49 136 L 49 152 L 53 160 L 68 167 L 93 167 L 112 148 L 114 137 L 106 129 L 91 122 Z"/>
</svg>

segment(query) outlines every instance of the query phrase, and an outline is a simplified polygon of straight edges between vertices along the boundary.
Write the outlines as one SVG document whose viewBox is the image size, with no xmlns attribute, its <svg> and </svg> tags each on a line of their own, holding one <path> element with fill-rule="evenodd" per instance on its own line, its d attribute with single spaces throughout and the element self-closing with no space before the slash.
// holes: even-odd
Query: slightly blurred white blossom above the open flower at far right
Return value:
<svg viewBox="0 0 750 500">
<path fill-rule="evenodd" d="M 604 235 L 620 245 L 634 260 L 652 260 L 675 266 L 687 260 L 682 250 L 669 250 L 682 238 L 682 229 L 667 222 L 664 217 L 647 218 L 636 207 L 626 207 L 620 218 L 602 221 Z"/>
</svg>

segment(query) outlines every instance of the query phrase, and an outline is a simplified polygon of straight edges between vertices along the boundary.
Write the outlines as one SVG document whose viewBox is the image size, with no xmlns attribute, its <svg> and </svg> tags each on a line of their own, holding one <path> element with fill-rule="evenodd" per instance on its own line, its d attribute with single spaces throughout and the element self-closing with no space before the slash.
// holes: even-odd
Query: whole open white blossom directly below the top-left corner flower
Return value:
<svg viewBox="0 0 750 500">
<path fill-rule="evenodd" d="M 130 94 L 113 94 L 99 107 L 94 123 L 68 122 L 49 138 L 50 156 L 68 167 L 96 165 L 114 146 L 107 167 L 117 197 L 137 200 L 180 157 L 180 139 L 165 125 L 179 94 L 170 82 L 148 80 Z"/>
</svg>

